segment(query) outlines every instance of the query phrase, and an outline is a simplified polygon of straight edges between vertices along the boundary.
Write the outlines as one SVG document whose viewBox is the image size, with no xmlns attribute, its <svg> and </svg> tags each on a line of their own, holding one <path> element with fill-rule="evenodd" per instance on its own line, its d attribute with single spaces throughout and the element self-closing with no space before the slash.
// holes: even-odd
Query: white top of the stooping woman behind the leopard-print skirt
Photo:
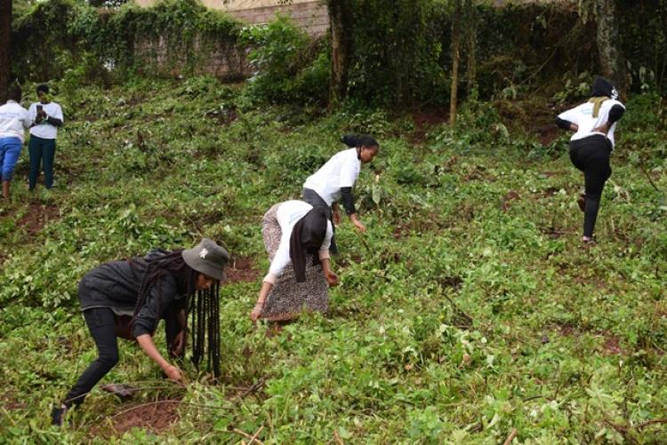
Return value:
<svg viewBox="0 0 667 445">
<path fill-rule="evenodd" d="M 353 187 L 361 170 L 357 148 L 343 150 L 331 157 L 303 183 L 314 190 L 327 205 L 341 199 L 341 187 Z"/>
</svg>

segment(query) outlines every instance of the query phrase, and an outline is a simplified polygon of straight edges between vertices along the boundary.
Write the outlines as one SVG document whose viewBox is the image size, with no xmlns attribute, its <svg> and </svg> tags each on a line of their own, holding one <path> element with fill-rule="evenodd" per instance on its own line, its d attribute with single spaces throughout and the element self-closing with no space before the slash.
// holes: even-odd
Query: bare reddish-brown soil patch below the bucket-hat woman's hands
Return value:
<svg viewBox="0 0 667 445">
<path fill-rule="evenodd" d="M 106 422 L 94 426 L 94 435 L 123 435 L 133 428 L 141 428 L 160 433 L 172 426 L 180 418 L 179 401 L 160 400 L 148 403 L 121 405 L 117 413 Z"/>
</svg>

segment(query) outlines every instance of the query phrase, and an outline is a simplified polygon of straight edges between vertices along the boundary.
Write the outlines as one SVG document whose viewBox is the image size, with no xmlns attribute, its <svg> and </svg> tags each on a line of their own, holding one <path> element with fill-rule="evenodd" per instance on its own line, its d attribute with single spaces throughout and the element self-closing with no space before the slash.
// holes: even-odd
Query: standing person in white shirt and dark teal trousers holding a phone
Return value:
<svg viewBox="0 0 667 445">
<path fill-rule="evenodd" d="M 55 158 L 55 139 L 58 127 L 62 126 L 62 108 L 49 99 L 48 85 L 37 85 L 37 98 L 28 108 L 28 115 L 35 123 L 30 128 L 30 171 L 28 172 L 28 188 L 34 190 L 39 176 L 39 167 L 44 167 L 44 187 L 53 187 L 53 159 Z"/>
</svg>

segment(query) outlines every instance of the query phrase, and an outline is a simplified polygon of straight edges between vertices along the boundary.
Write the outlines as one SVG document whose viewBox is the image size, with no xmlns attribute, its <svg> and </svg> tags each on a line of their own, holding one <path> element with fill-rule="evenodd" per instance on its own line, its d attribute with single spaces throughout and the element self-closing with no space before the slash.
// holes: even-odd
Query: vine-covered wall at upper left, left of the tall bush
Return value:
<svg viewBox="0 0 667 445">
<path fill-rule="evenodd" d="M 96 9 L 83 0 L 36 4 L 12 24 L 12 71 L 20 78 L 58 78 L 73 68 L 87 77 L 128 74 L 239 78 L 247 71 L 241 24 L 196 0 L 155 7 Z"/>
</svg>

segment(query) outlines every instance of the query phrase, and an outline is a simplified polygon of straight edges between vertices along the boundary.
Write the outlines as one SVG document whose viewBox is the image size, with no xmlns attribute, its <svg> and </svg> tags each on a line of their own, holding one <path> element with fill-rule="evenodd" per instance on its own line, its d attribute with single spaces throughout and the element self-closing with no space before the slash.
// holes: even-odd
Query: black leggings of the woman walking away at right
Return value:
<svg viewBox="0 0 667 445">
<path fill-rule="evenodd" d="M 593 236 L 602 189 L 611 176 L 609 155 L 611 155 L 611 142 L 605 136 L 593 135 L 570 142 L 570 160 L 577 169 L 583 171 L 586 192 L 583 236 Z"/>
</svg>

